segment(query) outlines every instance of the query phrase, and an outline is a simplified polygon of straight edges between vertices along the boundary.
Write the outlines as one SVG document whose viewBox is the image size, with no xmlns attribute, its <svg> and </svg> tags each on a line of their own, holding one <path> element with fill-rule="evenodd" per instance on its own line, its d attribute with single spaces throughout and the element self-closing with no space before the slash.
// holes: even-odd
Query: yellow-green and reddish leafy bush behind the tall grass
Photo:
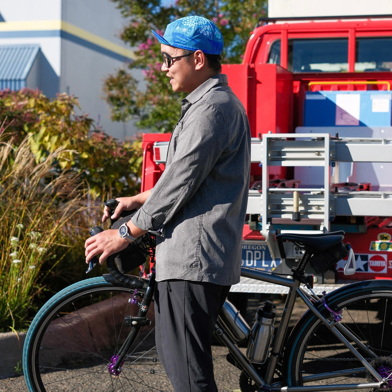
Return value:
<svg viewBox="0 0 392 392">
<path fill-rule="evenodd" d="M 7 129 L 14 146 L 28 135 L 36 164 L 62 147 L 54 168 L 78 172 L 94 199 L 134 194 L 142 161 L 140 140 L 118 142 L 98 129 L 90 131 L 93 120 L 76 115 L 75 107 L 80 109 L 78 101 L 67 94 L 49 100 L 38 90 L 0 91 L 0 134 Z"/>
</svg>

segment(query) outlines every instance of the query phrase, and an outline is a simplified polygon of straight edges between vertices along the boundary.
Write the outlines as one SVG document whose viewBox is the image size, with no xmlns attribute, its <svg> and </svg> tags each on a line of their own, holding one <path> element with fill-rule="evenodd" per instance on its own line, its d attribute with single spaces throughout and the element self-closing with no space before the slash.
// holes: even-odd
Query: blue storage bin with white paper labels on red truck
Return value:
<svg viewBox="0 0 392 392">
<path fill-rule="evenodd" d="M 392 91 L 307 91 L 303 126 L 392 125 Z"/>
</svg>

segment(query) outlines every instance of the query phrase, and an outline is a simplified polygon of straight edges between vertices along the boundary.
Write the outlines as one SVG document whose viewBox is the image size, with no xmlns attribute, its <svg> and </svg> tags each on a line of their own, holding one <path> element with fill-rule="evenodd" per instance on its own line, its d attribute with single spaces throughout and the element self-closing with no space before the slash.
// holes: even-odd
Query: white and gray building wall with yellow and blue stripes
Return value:
<svg viewBox="0 0 392 392">
<path fill-rule="evenodd" d="M 119 38 L 125 23 L 110 0 L 0 2 L 0 44 L 40 45 L 28 86 L 49 97 L 73 94 L 81 112 L 119 139 L 138 130 L 133 122 L 111 121 L 103 82 L 125 61 L 132 61 L 133 51 Z M 134 76 L 142 80 L 141 72 Z"/>
</svg>

